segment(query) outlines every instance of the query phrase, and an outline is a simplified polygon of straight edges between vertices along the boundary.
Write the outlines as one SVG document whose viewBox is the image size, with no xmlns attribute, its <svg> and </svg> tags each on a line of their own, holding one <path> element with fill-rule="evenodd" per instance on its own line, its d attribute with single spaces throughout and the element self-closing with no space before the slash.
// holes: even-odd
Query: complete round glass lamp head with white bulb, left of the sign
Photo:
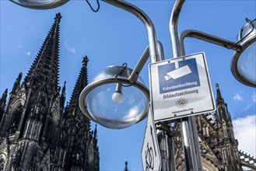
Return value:
<svg viewBox="0 0 256 171">
<path fill-rule="evenodd" d="M 98 73 L 79 96 L 82 113 L 111 129 L 130 127 L 143 120 L 149 110 L 149 89 L 140 77 L 128 86 L 131 73 L 131 69 L 121 66 L 110 66 Z"/>
</svg>

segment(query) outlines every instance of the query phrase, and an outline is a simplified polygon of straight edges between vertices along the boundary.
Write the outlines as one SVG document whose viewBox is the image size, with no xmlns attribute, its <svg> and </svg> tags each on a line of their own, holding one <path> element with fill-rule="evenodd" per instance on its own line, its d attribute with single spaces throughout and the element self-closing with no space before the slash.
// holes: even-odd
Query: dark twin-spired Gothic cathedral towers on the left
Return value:
<svg viewBox="0 0 256 171">
<path fill-rule="evenodd" d="M 79 110 L 87 84 L 88 58 L 65 106 L 65 84 L 58 86 L 59 23 L 54 24 L 21 83 L 22 74 L 0 99 L 0 170 L 100 170 L 96 127 Z"/>
</svg>

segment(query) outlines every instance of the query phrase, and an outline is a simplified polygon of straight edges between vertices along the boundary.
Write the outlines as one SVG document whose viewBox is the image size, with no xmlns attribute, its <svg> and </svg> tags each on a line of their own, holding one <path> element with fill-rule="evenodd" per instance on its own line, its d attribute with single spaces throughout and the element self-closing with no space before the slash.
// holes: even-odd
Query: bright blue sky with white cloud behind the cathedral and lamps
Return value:
<svg viewBox="0 0 256 171">
<path fill-rule="evenodd" d="M 96 8 L 95 1 L 89 1 Z M 163 44 L 165 58 L 172 58 L 169 20 L 174 1 L 133 0 L 152 19 L 156 37 Z M 72 0 L 61 7 L 48 10 L 25 9 L 7 0 L 0 1 L 1 22 L 1 95 L 12 85 L 19 72 L 23 77 L 51 28 L 54 16 L 61 12 L 60 86 L 67 82 L 69 99 L 82 66 L 82 58 L 89 58 L 89 79 L 109 65 L 128 63 L 134 68 L 148 46 L 145 26 L 128 12 L 100 2 L 99 12 L 92 12 L 86 1 Z M 237 33 L 246 23 L 245 18 L 256 17 L 254 0 L 195 1 L 184 3 L 179 19 L 179 33 L 193 29 L 227 40 L 237 41 Z M 218 82 L 228 104 L 239 149 L 256 155 L 255 150 L 255 89 L 242 85 L 230 72 L 232 50 L 188 38 L 186 54 L 205 52 L 212 89 L 216 95 Z M 149 87 L 147 61 L 141 77 Z M 146 120 L 124 130 L 98 127 L 100 170 L 142 170 L 141 148 Z M 94 127 L 94 124 L 92 124 Z M 244 139 L 247 138 L 247 141 Z"/>
</svg>

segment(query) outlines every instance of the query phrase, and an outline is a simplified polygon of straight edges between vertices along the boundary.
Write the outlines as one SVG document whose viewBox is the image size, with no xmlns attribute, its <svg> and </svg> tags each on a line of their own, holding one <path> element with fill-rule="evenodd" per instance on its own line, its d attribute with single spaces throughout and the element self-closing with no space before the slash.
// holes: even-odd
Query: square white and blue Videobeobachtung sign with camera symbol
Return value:
<svg viewBox="0 0 256 171">
<path fill-rule="evenodd" d="M 191 54 L 149 65 L 155 121 L 216 110 L 205 54 Z"/>
</svg>

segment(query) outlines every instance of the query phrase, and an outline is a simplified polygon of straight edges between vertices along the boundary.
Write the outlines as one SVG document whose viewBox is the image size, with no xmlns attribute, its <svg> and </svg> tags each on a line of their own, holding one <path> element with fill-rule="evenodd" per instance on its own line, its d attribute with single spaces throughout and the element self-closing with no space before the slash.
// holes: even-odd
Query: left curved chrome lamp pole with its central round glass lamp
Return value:
<svg viewBox="0 0 256 171">
<path fill-rule="evenodd" d="M 82 91 L 80 98 L 79 98 L 79 106 L 83 113 L 86 113 L 86 116 L 95 121 L 98 124 L 102 124 L 103 126 L 107 126 L 109 128 L 114 128 L 114 129 L 120 129 L 124 127 L 131 126 L 132 124 L 135 124 L 139 122 L 140 120 L 144 119 L 147 115 L 148 112 L 148 107 L 149 107 L 149 91 L 146 89 L 146 87 L 142 86 L 142 83 L 140 83 L 140 78 L 139 77 L 139 72 L 141 71 L 142 67 L 145 65 L 146 60 L 151 57 L 152 62 L 160 61 L 160 57 L 158 54 L 163 54 L 161 51 L 160 45 L 158 47 L 157 45 L 157 40 L 156 40 L 156 32 L 155 28 L 153 26 L 153 23 L 149 19 L 148 16 L 142 10 L 138 9 L 135 7 L 135 5 L 129 4 L 128 2 L 120 1 L 120 0 L 104 0 L 104 2 L 109 3 L 110 5 L 117 6 L 118 8 L 124 9 L 128 12 L 131 12 L 133 15 L 137 16 L 139 19 L 142 20 L 142 23 L 145 24 L 146 29 L 148 31 L 148 37 L 149 37 L 149 47 L 146 48 L 146 51 L 144 54 L 142 54 L 142 58 L 139 61 L 139 63 L 136 65 L 135 70 L 132 72 L 127 72 L 126 68 L 121 68 L 121 67 L 115 67 L 116 69 L 105 69 L 106 71 L 103 73 L 100 73 L 100 79 L 96 78 L 92 83 L 89 84 L 89 86 L 86 86 L 86 88 Z M 149 53 L 148 53 L 149 51 Z M 119 69 L 117 69 L 119 68 Z M 107 73 L 108 72 L 108 73 Z M 118 75 L 120 73 L 120 75 Z M 124 73 L 126 73 L 124 75 Z M 110 80 L 111 81 L 108 81 Z M 138 79 L 136 79 L 138 78 Z M 99 89 L 99 94 L 101 96 L 107 96 L 108 93 L 114 94 L 114 90 L 111 91 L 109 88 L 108 90 L 110 92 L 104 93 L 102 90 L 100 90 L 100 86 L 105 86 L 104 88 L 107 89 L 106 86 L 112 86 L 116 87 L 120 85 L 122 91 L 121 93 L 126 91 L 127 92 L 127 97 L 124 96 L 124 102 L 122 103 L 114 103 L 111 102 L 106 98 L 105 101 L 102 102 L 103 105 L 107 106 L 107 108 L 114 108 L 116 107 L 117 109 L 120 109 L 121 112 L 124 114 L 119 118 L 116 119 L 113 116 L 117 116 L 119 113 L 117 113 L 117 110 L 111 111 L 112 113 L 107 113 L 106 109 L 103 107 L 100 107 L 100 113 L 105 113 L 105 115 L 101 115 L 100 117 L 97 117 L 99 112 L 93 113 L 93 107 L 96 106 L 96 104 L 92 105 L 87 105 L 89 103 L 92 103 L 92 98 L 95 98 L 96 96 L 92 96 L 92 98 L 88 98 L 87 95 L 92 94 L 90 92 L 96 92 L 96 89 Z M 132 86 L 129 86 L 132 85 Z M 136 89 L 134 87 L 137 87 L 139 90 L 141 90 L 146 96 L 146 99 L 140 103 L 138 100 L 143 99 L 144 97 L 139 97 L 138 94 L 140 91 L 135 92 Z M 131 96 L 134 95 L 134 96 Z M 111 95 L 112 96 L 112 95 Z M 130 97 L 131 96 L 131 97 Z M 137 96 L 137 98 L 136 98 Z M 125 101 L 127 99 L 127 101 Z M 128 106 L 129 102 L 134 101 L 131 106 Z M 99 100 L 95 100 L 96 103 L 99 103 Z M 109 103 L 110 106 L 107 104 Z M 113 104 L 113 105 L 112 105 Z M 140 106 L 142 105 L 143 109 L 139 111 Z M 129 113 L 125 113 L 124 111 L 128 110 L 130 111 Z M 111 121 L 110 121 L 111 120 Z M 107 123 L 105 123 L 107 122 Z M 109 124 L 111 122 L 111 124 Z M 126 124 L 126 125 L 125 125 Z"/>
</svg>

